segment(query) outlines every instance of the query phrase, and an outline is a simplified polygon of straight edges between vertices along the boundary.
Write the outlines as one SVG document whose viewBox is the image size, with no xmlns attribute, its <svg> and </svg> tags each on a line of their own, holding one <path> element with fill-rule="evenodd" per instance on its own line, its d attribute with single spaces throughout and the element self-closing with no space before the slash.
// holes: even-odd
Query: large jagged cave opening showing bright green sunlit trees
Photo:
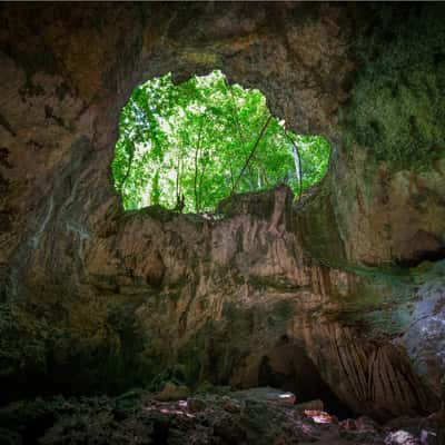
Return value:
<svg viewBox="0 0 445 445">
<path fill-rule="evenodd" d="M 257 89 L 221 71 L 175 85 L 171 73 L 138 86 L 119 120 L 112 176 L 123 208 L 212 212 L 237 192 L 287 184 L 296 197 L 326 174 L 323 136 L 296 135 Z"/>
</svg>

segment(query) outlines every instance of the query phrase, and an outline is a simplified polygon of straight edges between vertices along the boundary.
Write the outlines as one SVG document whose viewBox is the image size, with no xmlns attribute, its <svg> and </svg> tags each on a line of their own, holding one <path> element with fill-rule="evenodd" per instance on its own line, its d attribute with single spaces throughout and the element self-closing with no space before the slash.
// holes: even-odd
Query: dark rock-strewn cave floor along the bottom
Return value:
<svg viewBox="0 0 445 445">
<path fill-rule="evenodd" d="M 320 400 L 294 404 L 293 395 L 254 388 L 160 402 L 145 390 L 119 397 L 61 396 L 0 408 L 0 443 L 285 445 L 443 444 L 436 417 L 398 418 L 386 425 L 362 416 L 338 421 Z M 441 439 L 442 435 L 442 439 Z"/>
</svg>

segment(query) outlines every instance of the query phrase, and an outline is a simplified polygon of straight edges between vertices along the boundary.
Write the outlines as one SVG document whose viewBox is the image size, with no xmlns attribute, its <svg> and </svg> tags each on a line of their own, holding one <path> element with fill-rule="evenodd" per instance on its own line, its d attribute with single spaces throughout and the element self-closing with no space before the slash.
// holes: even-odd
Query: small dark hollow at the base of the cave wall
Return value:
<svg viewBox="0 0 445 445">
<path fill-rule="evenodd" d="M 323 379 L 305 349 L 298 345 L 280 344 L 263 356 L 258 384 L 295 394 L 296 404 L 322 400 L 324 411 L 340 421 L 354 416 L 352 409 Z"/>
</svg>

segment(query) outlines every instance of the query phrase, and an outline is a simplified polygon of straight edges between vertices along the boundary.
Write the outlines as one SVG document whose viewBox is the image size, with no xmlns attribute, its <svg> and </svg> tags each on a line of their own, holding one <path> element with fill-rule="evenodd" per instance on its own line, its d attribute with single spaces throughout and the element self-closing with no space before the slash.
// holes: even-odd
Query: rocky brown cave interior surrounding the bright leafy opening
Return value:
<svg viewBox="0 0 445 445">
<path fill-rule="evenodd" d="M 0 442 L 444 443 L 444 18 L 2 3 Z M 131 91 L 215 70 L 326 138 L 326 176 L 125 210 Z"/>
</svg>

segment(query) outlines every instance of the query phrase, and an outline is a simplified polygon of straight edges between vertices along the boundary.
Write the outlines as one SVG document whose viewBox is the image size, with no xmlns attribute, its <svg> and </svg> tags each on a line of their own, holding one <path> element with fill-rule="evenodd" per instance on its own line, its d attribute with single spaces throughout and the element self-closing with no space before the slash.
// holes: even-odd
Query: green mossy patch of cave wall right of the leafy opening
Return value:
<svg viewBox="0 0 445 445">
<path fill-rule="evenodd" d="M 419 13 L 412 8 L 403 19 L 380 21 L 374 44 L 365 37 L 356 47 L 364 68 L 347 112 L 342 112 L 350 131 L 346 139 L 366 147 L 369 160 L 386 162 L 393 171 L 428 170 L 445 148 L 443 18 L 434 9 Z"/>
</svg>

